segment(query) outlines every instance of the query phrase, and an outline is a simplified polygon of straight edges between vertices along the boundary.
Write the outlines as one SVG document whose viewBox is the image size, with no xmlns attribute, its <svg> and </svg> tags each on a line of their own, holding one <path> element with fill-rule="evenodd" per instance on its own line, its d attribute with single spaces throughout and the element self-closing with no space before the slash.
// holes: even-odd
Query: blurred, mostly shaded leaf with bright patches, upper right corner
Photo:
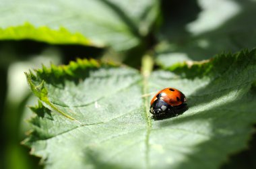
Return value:
<svg viewBox="0 0 256 169">
<path fill-rule="evenodd" d="M 156 35 L 160 41 L 158 63 L 171 66 L 184 60 L 209 59 L 220 52 L 255 48 L 255 9 L 255 1 L 201 0 L 186 7 L 183 2 L 170 4 Z"/>
</svg>

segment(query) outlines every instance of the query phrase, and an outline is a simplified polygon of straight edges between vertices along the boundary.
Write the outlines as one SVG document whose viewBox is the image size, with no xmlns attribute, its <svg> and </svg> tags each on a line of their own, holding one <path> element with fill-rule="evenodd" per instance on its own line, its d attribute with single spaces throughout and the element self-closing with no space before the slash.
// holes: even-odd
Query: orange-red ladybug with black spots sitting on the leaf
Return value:
<svg viewBox="0 0 256 169">
<path fill-rule="evenodd" d="M 165 88 L 156 93 L 150 102 L 150 113 L 154 118 L 167 115 L 178 115 L 179 111 L 186 106 L 185 95 L 178 89 Z"/>
</svg>

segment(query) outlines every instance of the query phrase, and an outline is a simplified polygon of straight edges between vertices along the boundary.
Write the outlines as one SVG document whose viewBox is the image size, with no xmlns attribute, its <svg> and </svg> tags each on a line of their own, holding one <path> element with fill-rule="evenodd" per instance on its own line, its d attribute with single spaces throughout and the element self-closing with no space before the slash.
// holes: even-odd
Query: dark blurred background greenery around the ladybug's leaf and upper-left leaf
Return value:
<svg viewBox="0 0 256 169">
<path fill-rule="evenodd" d="M 18 4 L 17 4 L 18 5 Z M 36 102 L 24 72 L 42 64 L 67 64 L 75 58 L 113 60 L 140 68 L 141 56 L 154 53 L 158 65 L 204 60 L 220 52 L 256 46 L 256 1 L 160 1 L 151 31 L 137 46 L 116 51 L 82 45 L 53 45 L 34 40 L 0 40 L 0 168 L 42 168 L 21 145 L 30 130 L 28 105 Z M 0 23 L 1 27 L 1 23 Z M 156 66 L 157 68 L 158 66 Z M 248 149 L 236 152 L 222 168 L 256 168 L 256 135 Z"/>
</svg>

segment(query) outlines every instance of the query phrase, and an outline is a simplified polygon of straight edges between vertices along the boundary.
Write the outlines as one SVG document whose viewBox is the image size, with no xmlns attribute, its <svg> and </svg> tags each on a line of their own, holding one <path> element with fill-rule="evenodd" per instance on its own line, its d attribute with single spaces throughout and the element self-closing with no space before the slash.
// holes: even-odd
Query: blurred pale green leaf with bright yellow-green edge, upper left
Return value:
<svg viewBox="0 0 256 169">
<path fill-rule="evenodd" d="M 18 5 L 17 5 L 18 4 Z M 1 1 L 0 39 L 53 44 L 137 46 L 158 14 L 158 1 Z"/>
</svg>

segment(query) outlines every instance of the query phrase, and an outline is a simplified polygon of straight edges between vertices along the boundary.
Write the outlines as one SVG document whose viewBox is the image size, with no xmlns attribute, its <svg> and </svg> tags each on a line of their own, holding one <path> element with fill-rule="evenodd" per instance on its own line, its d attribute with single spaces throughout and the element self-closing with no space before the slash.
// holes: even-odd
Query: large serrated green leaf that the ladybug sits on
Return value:
<svg viewBox="0 0 256 169">
<path fill-rule="evenodd" d="M 172 70 L 172 72 L 170 71 Z M 27 74 L 40 99 L 25 144 L 47 168 L 216 168 L 256 121 L 256 50 L 141 76 L 78 60 Z M 175 87 L 189 109 L 154 121 L 145 93 Z"/>
</svg>

